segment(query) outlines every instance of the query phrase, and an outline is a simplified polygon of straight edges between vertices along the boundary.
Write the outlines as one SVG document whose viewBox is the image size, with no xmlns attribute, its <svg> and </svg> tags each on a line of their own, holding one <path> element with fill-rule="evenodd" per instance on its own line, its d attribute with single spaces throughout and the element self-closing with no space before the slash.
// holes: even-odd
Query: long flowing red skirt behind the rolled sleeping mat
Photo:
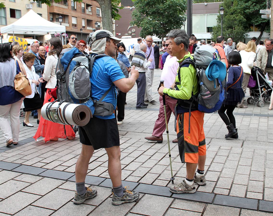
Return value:
<svg viewBox="0 0 273 216">
<path fill-rule="evenodd" d="M 49 90 L 46 91 L 46 97 L 44 98 L 44 104 L 48 102 L 53 102 L 54 98 L 52 98 L 50 101 L 48 101 L 52 96 L 48 94 Z M 44 137 L 44 141 L 47 142 L 50 139 L 54 139 L 55 137 L 58 138 L 67 138 L 64 134 L 64 126 L 66 128 L 66 135 L 75 137 L 75 133 L 70 125 L 62 125 L 55 122 L 51 122 L 48 120 L 45 120 L 42 116 L 40 118 L 40 123 L 38 126 L 38 129 L 36 131 L 36 134 L 34 135 L 34 139 L 38 139 L 40 136 Z"/>
</svg>

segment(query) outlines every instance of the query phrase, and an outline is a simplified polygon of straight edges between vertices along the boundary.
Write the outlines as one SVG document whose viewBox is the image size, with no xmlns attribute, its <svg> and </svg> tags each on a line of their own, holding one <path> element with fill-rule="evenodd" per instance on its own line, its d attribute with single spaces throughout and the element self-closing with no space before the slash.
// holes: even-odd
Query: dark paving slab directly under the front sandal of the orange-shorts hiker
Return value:
<svg viewBox="0 0 273 216">
<path fill-rule="evenodd" d="M 212 203 L 215 194 L 196 191 L 194 194 L 173 194 L 173 198 L 193 200 L 197 202 Z"/>
</svg>

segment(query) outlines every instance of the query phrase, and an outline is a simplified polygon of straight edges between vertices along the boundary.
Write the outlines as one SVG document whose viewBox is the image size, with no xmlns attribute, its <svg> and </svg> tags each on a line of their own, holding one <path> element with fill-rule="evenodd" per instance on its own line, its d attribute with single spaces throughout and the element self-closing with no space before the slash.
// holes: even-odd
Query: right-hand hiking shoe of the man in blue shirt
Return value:
<svg viewBox="0 0 273 216">
<path fill-rule="evenodd" d="M 136 202 L 139 198 L 138 192 L 129 191 L 127 190 L 127 187 L 124 188 L 124 192 L 121 197 L 118 197 L 116 194 L 114 194 L 113 188 L 112 188 L 112 194 L 113 194 L 113 198 L 112 198 L 113 205 L 121 205 L 123 203 Z"/>
</svg>

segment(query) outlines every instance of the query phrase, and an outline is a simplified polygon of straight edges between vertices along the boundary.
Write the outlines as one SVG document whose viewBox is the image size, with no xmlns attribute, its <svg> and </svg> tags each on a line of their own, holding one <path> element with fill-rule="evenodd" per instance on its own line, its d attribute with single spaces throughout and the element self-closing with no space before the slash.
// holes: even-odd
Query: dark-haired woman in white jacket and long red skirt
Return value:
<svg viewBox="0 0 273 216">
<path fill-rule="evenodd" d="M 56 79 L 56 65 L 58 62 L 58 57 L 63 49 L 62 42 L 58 38 L 51 38 L 49 40 L 49 52 L 46 58 L 43 78 L 48 81 L 46 84 L 47 92 L 44 98 L 44 104 L 54 101 L 51 95 L 49 95 L 49 90 L 54 89 L 57 84 Z M 58 138 L 68 138 L 70 140 L 75 138 L 75 132 L 70 125 L 65 125 L 66 134 L 64 133 L 64 125 L 54 123 L 51 121 L 44 120 L 43 117 L 40 119 L 40 124 L 38 126 L 37 132 L 34 135 L 34 139 L 38 139 L 40 136 L 44 137 L 44 141 L 47 142 L 57 141 Z"/>
</svg>

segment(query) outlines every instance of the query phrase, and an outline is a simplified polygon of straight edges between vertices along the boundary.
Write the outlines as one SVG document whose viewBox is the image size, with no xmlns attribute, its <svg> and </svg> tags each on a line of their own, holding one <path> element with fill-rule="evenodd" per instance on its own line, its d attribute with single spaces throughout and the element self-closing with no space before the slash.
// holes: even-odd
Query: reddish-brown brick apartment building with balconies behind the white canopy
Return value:
<svg viewBox="0 0 273 216">
<path fill-rule="evenodd" d="M 78 40 L 87 41 L 87 37 L 93 28 L 101 29 L 101 10 L 96 1 L 62 0 L 60 3 L 53 2 L 48 6 L 48 20 L 60 24 L 59 16 L 63 17 L 62 25 L 66 26 L 66 33 L 75 33 Z M 95 23 L 98 23 L 95 26 Z M 82 35 L 81 31 L 82 29 Z M 67 39 L 68 43 L 68 39 Z"/>
</svg>

